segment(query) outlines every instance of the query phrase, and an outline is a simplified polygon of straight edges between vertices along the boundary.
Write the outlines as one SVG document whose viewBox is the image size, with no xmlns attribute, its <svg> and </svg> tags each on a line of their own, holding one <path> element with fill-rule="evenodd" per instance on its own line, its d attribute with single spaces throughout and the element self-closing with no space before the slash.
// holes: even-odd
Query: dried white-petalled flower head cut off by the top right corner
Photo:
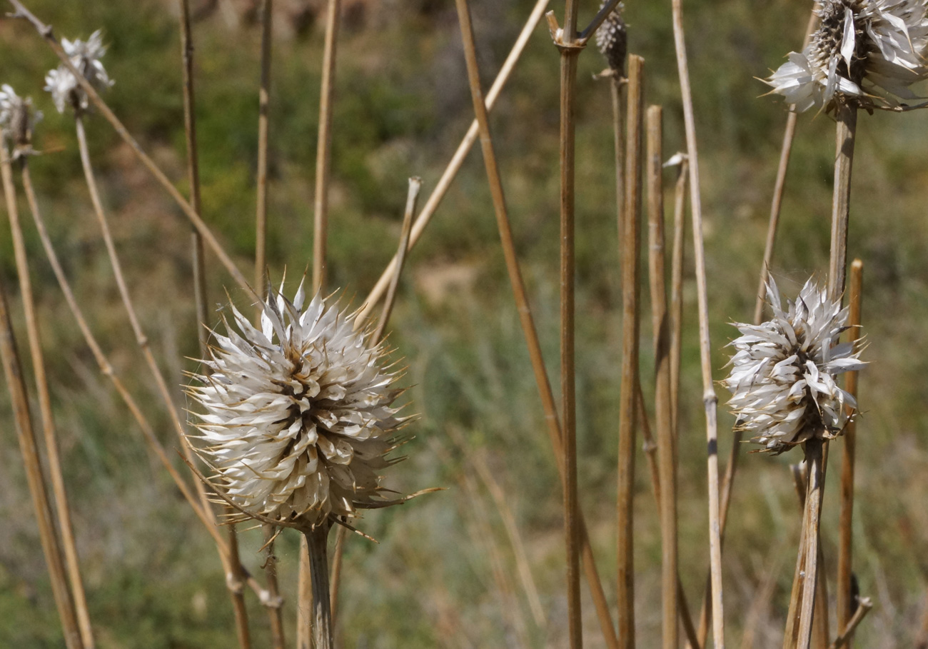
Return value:
<svg viewBox="0 0 928 649">
<path fill-rule="evenodd" d="M 766 80 L 771 92 L 800 112 L 918 98 L 909 86 L 928 78 L 928 0 L 817 0 L 816 12 L 818 30 Z"/>
</svg>

